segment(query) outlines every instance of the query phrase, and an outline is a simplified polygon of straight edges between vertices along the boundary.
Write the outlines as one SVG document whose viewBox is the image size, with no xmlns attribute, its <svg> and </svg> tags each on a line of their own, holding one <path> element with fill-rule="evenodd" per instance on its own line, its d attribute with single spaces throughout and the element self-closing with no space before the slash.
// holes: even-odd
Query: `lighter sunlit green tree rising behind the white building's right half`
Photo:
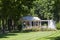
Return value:
<svg viewBox="0 0 60 40">
<path fill-rule="evenodd" d="M 42 19 L 53 19 L 54 0 L 38 0 L 34 3 L 35 13 Z"/>
</svg>

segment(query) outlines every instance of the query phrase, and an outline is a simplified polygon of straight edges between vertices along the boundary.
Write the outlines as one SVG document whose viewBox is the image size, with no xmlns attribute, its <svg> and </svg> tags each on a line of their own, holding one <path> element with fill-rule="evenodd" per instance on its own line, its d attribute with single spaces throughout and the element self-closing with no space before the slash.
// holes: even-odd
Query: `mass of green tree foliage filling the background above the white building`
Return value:
<svg viewBox="0 0 60 40">
<path fill-rule="evenodd" d="M 21 17 L 27 15 L 60 21 L 60 0 L 0 0 L 0 19 L 3 26 L 5 20 L 11 18 L 17 24 Z"/>
</svg>

